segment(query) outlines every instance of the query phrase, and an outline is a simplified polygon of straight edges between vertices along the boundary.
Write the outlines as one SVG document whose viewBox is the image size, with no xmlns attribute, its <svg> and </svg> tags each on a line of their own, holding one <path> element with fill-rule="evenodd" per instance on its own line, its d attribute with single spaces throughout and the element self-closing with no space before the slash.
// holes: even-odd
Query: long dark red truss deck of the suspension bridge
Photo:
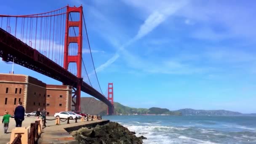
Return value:
<svg viewBox="0 0 256 144">
<path fill-rule="evenodd" d="M 13 61 L 14 58 L 16 64 L 32 69 L 67 85 L 77 87 L 78 78 L 75 75 L 1 28 L 0 57 L 3 58 L 3 61 Z M 112 107 L 110 101 L 99 93 L 99 91 L 91 87 L 91 85 L 83 82 L 81 91 L 94 96 L 109 107 Z"/>
</svg>

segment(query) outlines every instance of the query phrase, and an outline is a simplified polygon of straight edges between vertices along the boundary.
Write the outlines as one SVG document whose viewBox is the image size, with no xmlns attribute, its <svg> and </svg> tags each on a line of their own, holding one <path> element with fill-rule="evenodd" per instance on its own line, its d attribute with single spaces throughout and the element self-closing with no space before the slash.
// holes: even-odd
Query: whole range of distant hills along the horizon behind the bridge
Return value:
<svg viewBox="0 0 256 144">
<path fill-rule="evenodd" d="M 232 112 L 228 110 L 202 110 L 202 109 L 179 109 L 170 111 L 169 109 L 162 109 L 158 107 L 132 108 L 124 106 L 118 102 L 114 103 L 115 115 L 246 115 L 256 116 L 253 114 L 242 114 L 240 112 Z M 72 107 L 74 109 L 74 107 Z M 107 105 L 92 97 L 81 97 L 81 110 L 88 114 L 107 114 Z"/>
</svg>

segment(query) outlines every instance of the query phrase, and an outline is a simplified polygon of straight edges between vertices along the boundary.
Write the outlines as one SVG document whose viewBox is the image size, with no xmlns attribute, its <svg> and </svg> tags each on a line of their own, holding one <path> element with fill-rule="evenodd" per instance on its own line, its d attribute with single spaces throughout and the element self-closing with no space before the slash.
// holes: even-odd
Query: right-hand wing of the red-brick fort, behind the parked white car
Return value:
<svg viewBox="0 0 256 144">
<path fill-rule="evenodd" d="M 70 111 L 72 101 L 72 86 L 46 85 L 46 109 L 48 115 L 55 112 Z"/>
</svg>

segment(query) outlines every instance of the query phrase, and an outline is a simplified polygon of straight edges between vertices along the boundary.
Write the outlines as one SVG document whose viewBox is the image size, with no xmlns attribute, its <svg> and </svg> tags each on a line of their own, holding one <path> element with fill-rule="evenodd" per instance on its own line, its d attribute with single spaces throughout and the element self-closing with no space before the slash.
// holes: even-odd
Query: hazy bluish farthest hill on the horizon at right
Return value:
<svg viewBox="0 0 256 144">
<path fill-rule="evenodd" d="M 243 115 L 240 112 L 232 112 L 228 110 L 202 110 L 202 109 L 179 109 L 182 115 Z"/>
</svg>

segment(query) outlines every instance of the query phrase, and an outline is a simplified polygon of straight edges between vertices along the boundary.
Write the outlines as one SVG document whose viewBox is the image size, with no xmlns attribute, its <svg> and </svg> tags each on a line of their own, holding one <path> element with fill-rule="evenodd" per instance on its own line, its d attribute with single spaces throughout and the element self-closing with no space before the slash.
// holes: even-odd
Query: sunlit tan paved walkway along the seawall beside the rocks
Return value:
<svg viewBox="0 0 256 144">
<path fill-rule="evenodd" d="M 47 119 L 54 119 L 55 117 L 47 117 Z M 8 133 L 5 134 L 3 131 L 2 124 L 3 116 L 0 116 L 0 144 L 6 144 L 10 141 L 11 131 L 15 128 L 15 120 L 10 118 Z M 25 117 L 25 120 L 22 123 L 22 127 L 30 126 L 30 123 L 34 123 L 36 117 Z M 105 124 L 108 123 L 109 120 L 93 120 L 93 121 L 85 121 L 81 123 L 80 120 L 69 120 L 70 124 L 67 124 L 67 121 L 61 122 L 61 125 L 55 125 L 55 120 L 47 120 L 46 128 L 43 128 L 43 133 L 41 133 L 41 137 L 38 141 L 38 144 L 77 144 L 77 141 L 67 132 L 67 131 L 75 131 L 81 127 L 91 127 L 97 124 Z M 65 130 L 66 129 L 66 130 Z"/>
</svg>

